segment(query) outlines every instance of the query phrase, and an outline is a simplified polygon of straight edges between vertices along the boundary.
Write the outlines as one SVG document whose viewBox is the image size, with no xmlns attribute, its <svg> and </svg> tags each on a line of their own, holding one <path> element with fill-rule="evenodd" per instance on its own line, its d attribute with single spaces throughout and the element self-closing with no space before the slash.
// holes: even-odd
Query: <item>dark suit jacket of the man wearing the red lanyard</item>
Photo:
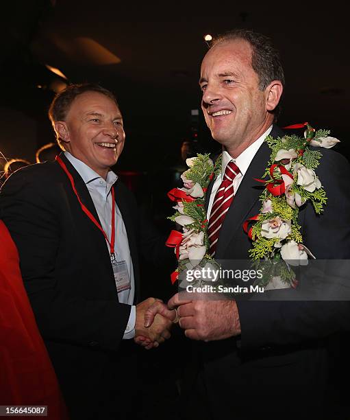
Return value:
<svg viewBox="0 0 350 420">
<path fill-rule="evenodd" d="M 84 181 L 62 159 L 80 198 L 98 220 Z M 149 254 L 156 243 L 165 248 L 164 240 L 140 222 L 136 200 L 120 180 L 114 189 L 134 264 L 136 301 L 138 237 Z M 82 410 L 88 401 L 82 418 L 97 418 L 91 414 L 94 404 L 110 393 L 110 384 L 121 382 L 116 371 L 135 375 L 134 362 L 112 366 L 136 346 L 133 340 L 122 340 L 130 306 L 118 303 L 105 238 L 82 211 L 57 162 L 31 165 L 10 176 L 0 194 L 0 217 L 18 248 L 25 288 L 67 404 Z"/>
</svg>

